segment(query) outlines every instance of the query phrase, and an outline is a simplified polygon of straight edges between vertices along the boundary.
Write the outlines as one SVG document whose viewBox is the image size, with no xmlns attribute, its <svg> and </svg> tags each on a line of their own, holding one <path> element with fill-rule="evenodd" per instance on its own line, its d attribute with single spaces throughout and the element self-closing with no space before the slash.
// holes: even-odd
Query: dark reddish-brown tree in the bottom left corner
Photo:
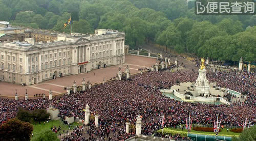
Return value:
<svg viewBox="0 0 256 141">
<path fill-rule="evenodd" d="M 18 120 L 10 119 L 0 126 L 0 140 L 29 140 L 33 131 L 33 125 Z"/>
</svg>

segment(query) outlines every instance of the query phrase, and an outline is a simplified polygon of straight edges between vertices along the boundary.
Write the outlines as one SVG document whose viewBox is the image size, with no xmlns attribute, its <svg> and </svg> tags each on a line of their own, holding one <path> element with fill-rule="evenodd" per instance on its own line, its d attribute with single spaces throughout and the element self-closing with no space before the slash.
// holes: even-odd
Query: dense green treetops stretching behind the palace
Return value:
<svg viewBox="0 0 256 141">
<path fill-rule="evenodd" d="M 124 31 L 131 48 L 152 41 L 214 60 L 255 61 L 256 15 L 198 16 L 193 1 L 180 0 L 0 0 L 0 20 L 13 25 L 69 33 L 70 16 L 73 32 Z"/>
</svg>

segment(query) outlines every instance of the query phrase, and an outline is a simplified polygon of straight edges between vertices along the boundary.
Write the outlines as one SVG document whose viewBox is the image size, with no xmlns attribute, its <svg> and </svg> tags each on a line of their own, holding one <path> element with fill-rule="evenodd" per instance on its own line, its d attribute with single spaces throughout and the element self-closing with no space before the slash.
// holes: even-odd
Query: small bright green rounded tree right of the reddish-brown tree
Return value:
<svg viewBox="0 0 256 141">
<path fill-rule="evenodd" d="M 44 131 L 41 131 L 35 139 L 33 139 L 33 141 L 48 141 L 48 140 L 57 141 L 59 140 L 59 138 L 53 131 L 44 130 Z"/>
</svg>

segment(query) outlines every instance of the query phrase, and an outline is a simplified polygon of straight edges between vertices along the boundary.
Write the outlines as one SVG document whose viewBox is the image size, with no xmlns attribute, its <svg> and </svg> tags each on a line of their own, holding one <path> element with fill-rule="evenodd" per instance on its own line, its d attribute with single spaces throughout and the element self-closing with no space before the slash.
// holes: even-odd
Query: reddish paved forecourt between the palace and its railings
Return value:
<svg viewBox="0 0 256 141">
<path fill-rule="evenodd" d="M 125 71 L 126 65 L 128 65 L 131 74 L 134 74 L 140 72 L 138 71 L 139 68 L 152 67 L 152 65 L 155 65 L 155 63 L 155 58 L 139 57 L 136 55 L 126 55 L 125 64 L 119 66 L 110 66 L 106 68 L 92 70 L 89 73 L 69 75 L 61 78 L 57 77 L 56 79 L 51 79 L 31 86 L 22 87 L 18 84 L 0 82 L 0 97 L 14 98 L 15 89 L 17 89 L 17 94 L 19 97 L 25 96 L 26 89 L 29 97 L 32 98 L 34 98 L 34 94 L 45 93 L 46 96 L 48 96 L 50 90 L 52 90 L 53 95 L 57 95 L 65 93 L 66 91 L 63 88 L 71 87 L 73 85 L 74 80 L 76 81 L 77 85 L 80 85 L 82 83 L 82 78 L 85 78 L 86 82 L 90 80 L 92 84 L 99 83 L 103 81 L 103 77 L 105 77 L 105 81 L 111 78 L 113 79 L 113 77 L 116 76 L 119 67 L 121 67 L 121 71 Z"/>
</svg>

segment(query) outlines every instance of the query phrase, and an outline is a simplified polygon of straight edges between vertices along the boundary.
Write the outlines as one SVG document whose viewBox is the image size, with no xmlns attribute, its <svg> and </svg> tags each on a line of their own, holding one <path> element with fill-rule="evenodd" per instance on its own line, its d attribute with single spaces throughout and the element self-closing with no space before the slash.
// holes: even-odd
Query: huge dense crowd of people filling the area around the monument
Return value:
<svg viewBox="0 0 256 141">
<path fill-rule="evenodd" d="M 254 124 L 255 114 L 255 86 L 254 73 L 247 72 L 209 72 L 209 81 L 217 81 L 217 86 L 228 88 L 241 93 L 246 93 L 245 102 L 227 105 L 213 105 L 202 103 L 181 102 L 163 96 L 160 88 L 168 89 L 177 81 L 192 82 L 198 77 L 196 71 L 148 72 L 133 76 L 127 81 L 112 81 L 104 85 L 93 87 L 90 90 L 76 94 L 56 97 L 51 101 L 47 99 L 29 99 L 14 101 L 1 99 L 0 122 L 16 116 L 17 108 L 23 107 L 29 110 L 36 108 L 48 108 L 50 103 L 59 109 L 60 116 L 75 116 L 84 118 L 83 109 L 88 103 L 91 114 L 96 113 L 99 117 L 99 128 L 90 123 L 87 134 L 93 138 L 108 138 L 109 140 L 124 140 L 133 136 L 125 133 L 125 123 L 129 121 L 132 125 L 136 123 L 136 117 L 142 117 L 142 134 L 154 135 L 155 131 L 161 129 L 159 114 L 165 115 L 164 126 L 177 127 L 185 124 L 190 114 L 194 124 L 209 125 L 217 119 L 222 120 L 226 126 L 241 126 L 247 118 Z M 81 135 L 80 130 L 75 131 L 72 137 Z M 111 136 L 109 136 L 111 134 Z M 83 136 L 81 135 L 81 138 Z M 175 136 L 177 138 L 177 136 Z M 63 138 L 65 140 L 65 138 Z M 84 139 L 84 138 L 83 138 Z M 80 140 L 83 140 L 80 139 Z"/>
</svg>

